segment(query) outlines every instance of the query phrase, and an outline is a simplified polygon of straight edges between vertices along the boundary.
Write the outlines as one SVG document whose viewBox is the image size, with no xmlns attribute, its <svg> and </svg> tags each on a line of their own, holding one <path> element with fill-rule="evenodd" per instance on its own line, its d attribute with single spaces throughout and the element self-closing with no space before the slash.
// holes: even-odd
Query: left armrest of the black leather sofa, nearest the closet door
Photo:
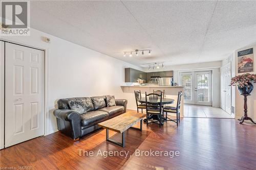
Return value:
<svg viewBox="0 0 256 170">
<path fill-rule="evenodd" d="M 58 130 L 68 134 L 73 139 L 81 136 L 81 118 L 78 112 L 69 109 L 56 109 L 53 112 L 57 120 Z"/>
</svg>

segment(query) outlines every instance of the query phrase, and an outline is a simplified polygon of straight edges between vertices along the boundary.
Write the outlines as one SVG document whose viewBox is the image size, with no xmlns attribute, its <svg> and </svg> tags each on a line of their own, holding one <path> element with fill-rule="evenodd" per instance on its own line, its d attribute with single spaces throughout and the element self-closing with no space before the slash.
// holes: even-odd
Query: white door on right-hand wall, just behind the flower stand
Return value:
<svg viewBox="0 0 256 170">
<path fill-rule="evenodd" d="M 231 114 L 231 64 L 221 68 L 221 108 Z"/>
</svg>

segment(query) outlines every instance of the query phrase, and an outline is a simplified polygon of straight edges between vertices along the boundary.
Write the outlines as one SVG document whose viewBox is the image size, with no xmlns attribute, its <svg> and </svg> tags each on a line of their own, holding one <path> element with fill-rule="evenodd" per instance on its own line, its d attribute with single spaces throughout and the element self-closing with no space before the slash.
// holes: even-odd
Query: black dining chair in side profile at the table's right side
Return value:
<svg viewBox="0 0 256 170">
<path fill-rule="evenodd" d="M 163 113 L 165 112 L 165 117 L 166 120 L 165 121 L 173 121 L 177 124 L 177 127 L 179 126 L 180 123 L 180 103 L 181 103 L 181 96 L 182 96 L 182 91 L 179 91 L 178 93 L 178 99 L 177 99 L 177 106 L 173 107 L 173 106 L 169 106 L 169 105 L 165 105 L 163 107 Z M 171 119 L 167 117 L 167 113 L 176 113 L 176 119 Z"/>
</svg>

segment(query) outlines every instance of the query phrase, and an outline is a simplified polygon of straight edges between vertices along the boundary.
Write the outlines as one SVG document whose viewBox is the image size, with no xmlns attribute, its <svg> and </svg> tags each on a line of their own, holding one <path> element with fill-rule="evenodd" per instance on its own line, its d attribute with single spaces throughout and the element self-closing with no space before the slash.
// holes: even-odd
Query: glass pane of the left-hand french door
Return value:
<svg viewBox="0 0 256 170">
<path fill-rule="evenodd" d="M 185 86 L 184 88 L 184 100 L 192 100 L 191 90 L 192 90 L 192 75 L 181 75 L 181 85 Z"/>
</svg>

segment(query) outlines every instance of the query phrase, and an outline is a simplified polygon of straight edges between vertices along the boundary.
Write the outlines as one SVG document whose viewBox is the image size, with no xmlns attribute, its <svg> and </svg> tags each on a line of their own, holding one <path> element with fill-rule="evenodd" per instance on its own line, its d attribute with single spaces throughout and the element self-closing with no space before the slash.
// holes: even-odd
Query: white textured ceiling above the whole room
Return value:
<svg viewBox="0 0 256 170">
<path fill-rule="evenodd" d="M 31 27 L 138 66 L 218 61 L 256 41 L 256 1 L 31 1 Z"/>
</svg>

